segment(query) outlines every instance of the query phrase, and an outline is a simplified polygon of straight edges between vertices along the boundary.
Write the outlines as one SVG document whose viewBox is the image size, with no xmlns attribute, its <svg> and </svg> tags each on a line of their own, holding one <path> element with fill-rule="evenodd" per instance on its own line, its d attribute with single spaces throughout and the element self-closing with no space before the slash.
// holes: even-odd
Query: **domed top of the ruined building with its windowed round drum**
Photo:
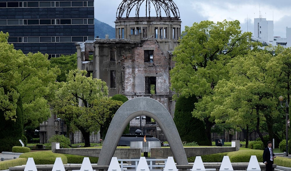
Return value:
<svg viewBox="0 0 291 171">
<path fill-rule="evenodd" d="M 159 44 L 171 40 L 175 47 L 181 35 L 180 13 L 172 0 L 123 0 L 117 8 L 115 29 L 116 39 L 153 36 Z"/>
</svg>

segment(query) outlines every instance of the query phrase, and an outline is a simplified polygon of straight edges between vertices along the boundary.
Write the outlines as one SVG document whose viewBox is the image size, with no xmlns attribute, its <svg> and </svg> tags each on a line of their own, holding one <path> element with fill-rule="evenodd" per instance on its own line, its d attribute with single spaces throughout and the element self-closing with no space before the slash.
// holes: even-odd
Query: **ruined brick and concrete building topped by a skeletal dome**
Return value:
<svg viewBox="0 0 291 171">
<path fill-rule="evenodd" d="M 139 16 L 140 9 L 145 9 L 145 16 Z M 175 101 L 169 71 L 174 67 L 172 51 L 181 35 L 176 4 L 172 0 L 123 0 L 117 9 L 115 29 L 116 39 L 107 35 L 105 39 L 75 43 L 78 68 L 106 81 L 109 96 L 150 97 L 173 117 Z M 93 60 L 89 54 L 94 54 Z M 165 139 L 151 118 L 141 116 L 130 122 L 130 133 L 140 128 L 144 134 Z"/>
</svg>

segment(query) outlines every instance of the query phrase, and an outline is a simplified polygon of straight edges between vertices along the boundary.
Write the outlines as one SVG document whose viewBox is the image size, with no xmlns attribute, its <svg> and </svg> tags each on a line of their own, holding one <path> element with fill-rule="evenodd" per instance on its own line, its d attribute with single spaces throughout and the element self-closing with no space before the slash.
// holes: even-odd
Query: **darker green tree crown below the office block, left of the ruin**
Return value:
<svg viewBox="0 0 291 171">
<path fill-rule="evenodd" d="M 77 69 L 77 52 L 72 55 L 61 55 L 57 58 L 50 59 L 51 67 L 58 67 L 61 70 L 61 74 L 58 75 L 57 81 L 62 82 L 67 80 L 67 74 L 69 74 L 70 70 Z"/>
</svg>

